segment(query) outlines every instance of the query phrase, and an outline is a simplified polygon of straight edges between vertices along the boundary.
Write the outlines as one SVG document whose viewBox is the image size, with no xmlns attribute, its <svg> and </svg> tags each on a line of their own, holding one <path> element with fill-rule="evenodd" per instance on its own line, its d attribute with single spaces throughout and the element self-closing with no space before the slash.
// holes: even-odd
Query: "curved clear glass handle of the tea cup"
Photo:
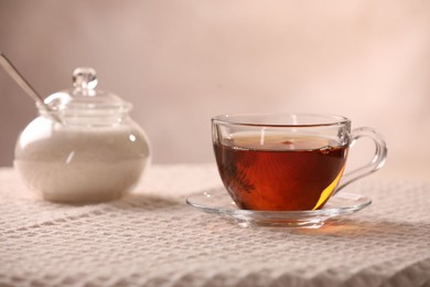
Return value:
<svg viewBox="0 0 430 287">
<path fill-rule="evenodd" d="M 356 128 L 352 131 L 350 148 L 352 148 L 359 138 L 369 138 L 374 141 L 375 155 L 372 161 L 366 166 L 345 173 L 342 177 L 341 182 L 337 185 L 337 189 L 335 190 L 334 194 L 337 193 L 343 188 L 345 188 L 346 185 L 348 185 L 350 183 L 374 173 L 375 171 L 380 169 L 385 163 L 388 150 L 387 150 L 387 145 L 383 139 L 383 136 L 373 128 L 368 128 L 368 127 Z"/>
</svg>

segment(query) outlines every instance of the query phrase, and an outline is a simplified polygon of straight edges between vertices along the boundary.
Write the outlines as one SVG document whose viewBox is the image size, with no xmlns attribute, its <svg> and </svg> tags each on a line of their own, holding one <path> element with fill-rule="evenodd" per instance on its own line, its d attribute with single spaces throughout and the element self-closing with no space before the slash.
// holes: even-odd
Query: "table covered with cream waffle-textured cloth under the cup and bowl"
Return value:
<svg viewBox="0 0 430 287">
<path fill-rule="evenodd" d="M 320 228 L 240 227 L 185 204 L 213 164 L 153 166 L 121 200 L 65 205 L 0 169 L 0 286 L 430 286 L 430 184 L 370 177 Z"/>
</svg>

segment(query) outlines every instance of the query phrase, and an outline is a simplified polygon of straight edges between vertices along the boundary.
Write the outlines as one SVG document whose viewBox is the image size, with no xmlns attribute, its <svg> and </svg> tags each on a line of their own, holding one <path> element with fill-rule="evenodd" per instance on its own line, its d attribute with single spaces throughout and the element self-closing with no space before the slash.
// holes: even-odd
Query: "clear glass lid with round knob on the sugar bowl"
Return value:
<svg viewBox="0 0 430 287">
<path fill-rule="evenodd" d="M 73 88 L 56 92 L 46 97 L 44 103 L 50 106 L 50 113 L 60 116 L 126 114 L 131 109 L 132 105 L 119 96 L 96 89 L 97 84 L 94 68 L 77 67 L 73 72 Z"/>
</svg>

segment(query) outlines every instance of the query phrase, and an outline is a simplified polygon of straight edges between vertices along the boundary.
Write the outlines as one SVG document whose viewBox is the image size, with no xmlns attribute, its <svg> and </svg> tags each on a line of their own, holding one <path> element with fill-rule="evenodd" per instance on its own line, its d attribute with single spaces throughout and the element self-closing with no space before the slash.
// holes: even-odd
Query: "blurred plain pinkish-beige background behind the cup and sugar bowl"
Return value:
<svg viewBox="0 0 430 287">
<path fill-rule="evenodd" d="M 214 115 L 329 113 L 385 135 L 380 174 L 430 180 L 430 1 L 0 0 L 0 51 L 45 96 L 96 68 L 155 163 L 213 162 Z M 36 111 L 3 71 L 0 96 L 11 166 Z"/>
</svg>

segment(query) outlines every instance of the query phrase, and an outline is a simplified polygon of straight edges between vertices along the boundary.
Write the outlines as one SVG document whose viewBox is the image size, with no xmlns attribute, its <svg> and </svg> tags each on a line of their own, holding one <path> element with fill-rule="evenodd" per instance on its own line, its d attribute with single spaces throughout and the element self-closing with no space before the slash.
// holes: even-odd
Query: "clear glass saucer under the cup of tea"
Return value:
<svg viewBox="0 0 430 287">
<path fill-rule="evenodd" d="M 370 205 L 372 200 L 359 194 L 340 192 L 321 210 L 254 211 L 240 210 L 223 189 L 190 195 L 186 203 L 200 211 L 234 220 L 243 227 L 289 226 L 318 228 L 324 221 L 351 214 Z"/>
</svg>

